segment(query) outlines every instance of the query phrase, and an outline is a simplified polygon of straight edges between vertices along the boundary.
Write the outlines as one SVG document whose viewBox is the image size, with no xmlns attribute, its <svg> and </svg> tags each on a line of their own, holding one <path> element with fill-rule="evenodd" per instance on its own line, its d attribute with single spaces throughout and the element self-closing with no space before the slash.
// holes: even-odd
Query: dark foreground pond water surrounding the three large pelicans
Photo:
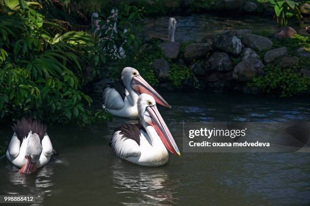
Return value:
<svg viewBox="0 0 310 206">
<path fill-rule="evenodd" d="M 159 109 L 180 149 L 184 121 L 310 120 L 309 99 L 198 93 L 163 96 L 173 109 Z M 33 194 L 33 205 L 310 203 L 308 153 L 181 152 L 180 157 L 171 154 L 166 166 L 140 167 L 115 157 L 108 146 L 115 127 L 134 121 L 115 117 L 85 129 L 50 126 L 48 133 L 60 155 L 30 176 L 21 176 L 6 158 L 1 159 L 0 194 Z M 0 127 L 2 145 L 11 136 L 10 128 Z"/>
</svg>

